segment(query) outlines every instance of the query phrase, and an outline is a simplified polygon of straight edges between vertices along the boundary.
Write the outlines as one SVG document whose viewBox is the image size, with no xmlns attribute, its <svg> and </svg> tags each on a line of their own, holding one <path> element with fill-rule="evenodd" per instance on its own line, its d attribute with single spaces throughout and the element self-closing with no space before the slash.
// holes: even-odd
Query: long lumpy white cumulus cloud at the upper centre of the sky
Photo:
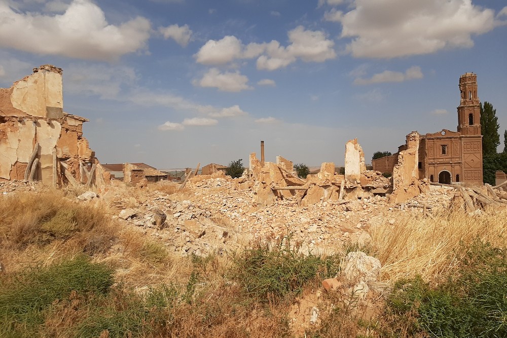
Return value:
<svg viewBox="0 0 507 338">
<path fill-rule="evenodd" d="M 194 55 L 202 64 L 222 65 L 237 59 L 257 59 L 257 68 L 275 70 L 286 67 L 298 58 L 305 62 L 323 62 L 336 58 L 335 43 L 324 32 L 298 26 L 287 33 L 290 44 L 281 46 L 278 41 L 243 45 L 236 36 L 209 40 Z"/>
</svg>

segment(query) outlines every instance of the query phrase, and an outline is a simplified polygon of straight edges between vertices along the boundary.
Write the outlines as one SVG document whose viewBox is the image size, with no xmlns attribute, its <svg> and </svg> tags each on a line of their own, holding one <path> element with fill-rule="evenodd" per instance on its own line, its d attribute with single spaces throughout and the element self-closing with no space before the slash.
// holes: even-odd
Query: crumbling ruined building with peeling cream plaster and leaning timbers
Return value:
<svg viewBox="0 0 507 338">
<path fill-rule="evenodd" d="M 83 137 L 87 121 L 63 111 L 61 68 L 33 68 L 0 88 L 0 180 L 103 184 L 102 168 Z"/>
</svg>

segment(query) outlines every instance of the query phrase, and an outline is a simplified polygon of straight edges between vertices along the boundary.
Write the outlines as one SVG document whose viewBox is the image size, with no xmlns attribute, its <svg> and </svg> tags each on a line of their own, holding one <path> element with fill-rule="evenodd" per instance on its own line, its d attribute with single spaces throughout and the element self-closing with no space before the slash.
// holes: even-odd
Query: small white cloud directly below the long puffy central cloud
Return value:
<svg viewBox="0 0 507 338">
<path fill-rule="evenodd" d="M 201 80 L 194 81 L 194 85 L 200 87 L 218 88 L 224 92 L 240 92 L 251 89 L 247 85 L 248 78 L 239 71 L 221 73 L 217 68 L 211 68 L 204 74 Z"/>
</svg>

